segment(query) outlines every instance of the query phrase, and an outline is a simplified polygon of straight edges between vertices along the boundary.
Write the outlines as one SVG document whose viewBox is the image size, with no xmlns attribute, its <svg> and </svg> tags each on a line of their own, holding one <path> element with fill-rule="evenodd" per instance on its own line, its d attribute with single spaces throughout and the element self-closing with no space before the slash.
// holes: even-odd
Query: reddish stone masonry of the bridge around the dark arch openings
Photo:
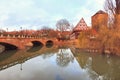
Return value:
<svg viewBox="0 0 120 80">
<path fill-rule="evenodd" d="M 46 39 L 46 38 L 10 38 L 10 37 L 0 37 L 0 44 L 6 43 L 16 46 L 18 49 L 25 49 L 27 46 L 33 46 L 33 41 L 37 41 L 46 45 L 47 41 L 52 41 L 54 44 L 57 43 L 57 39 Z"/>
</svg>

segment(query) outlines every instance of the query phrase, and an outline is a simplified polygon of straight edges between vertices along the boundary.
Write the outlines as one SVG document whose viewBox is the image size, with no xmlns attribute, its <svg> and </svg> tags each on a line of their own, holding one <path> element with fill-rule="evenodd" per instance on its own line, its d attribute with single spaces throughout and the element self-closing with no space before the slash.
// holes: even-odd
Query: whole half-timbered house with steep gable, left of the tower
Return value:
<svg viewBox="0 0 120 80">
<path fill-rule="evenodd" d="M 89 27 L 87 26 L 85 20 L 82 18 L 78 24 L 73 28 L 73 31 L 70 35 L 70 39 L 78 39 L 80 32 L 88 30 Z"/>
</svg>

